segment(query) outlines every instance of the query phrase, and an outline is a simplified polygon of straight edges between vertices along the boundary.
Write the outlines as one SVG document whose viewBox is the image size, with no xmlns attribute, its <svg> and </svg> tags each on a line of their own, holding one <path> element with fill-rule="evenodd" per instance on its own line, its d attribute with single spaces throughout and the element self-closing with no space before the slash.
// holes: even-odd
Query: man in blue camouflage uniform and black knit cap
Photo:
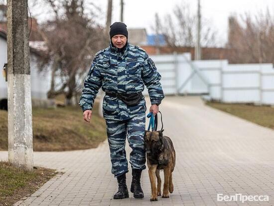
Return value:
<svg viewBox="0 0 274 206">
<path fill-rule="evenodd" d="M 96 53 L 90 71 L 84 82 L 80 106 L 84 120 L 90 122 L 94 99 L 100 87 L 106 92 L 103 101 L 103 116 L 107 124 L 108 142 L 111 153 L 112 173 L 118 180 L 119 190 L 114 199 L 129 197 L 126 185 L 128 162 L 125 141 L 128 138 L 132 148 L 130 164 L 133 181 L 131 192 L 135 198 L 143 198 L 140 187 L 141 171 L 145 169 L 145 111 L 144 97 L 140 96 L 137 105 L 131 106 L 122 101 L 119 95 L 138 96 L 144 85 L 148 89 L 151 107 L 156 114 L 158 105 L 164 98 L 161 76 L 146 52 L 128 43 L 126 24 L 115 22 L 110 30 L 111 45 Z"/>
</svg>

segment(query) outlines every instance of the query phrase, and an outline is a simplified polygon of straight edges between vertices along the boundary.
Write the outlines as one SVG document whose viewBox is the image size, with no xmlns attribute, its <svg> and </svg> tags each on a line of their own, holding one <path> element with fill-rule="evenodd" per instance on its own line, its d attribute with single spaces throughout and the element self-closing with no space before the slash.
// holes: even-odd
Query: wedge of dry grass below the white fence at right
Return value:
<svg viewBox="0 0 274 206">
<path fill-rule="evenodd" d="M 274 129 L 273 107 L 248 104 L 225 104 L 219 102 L 206 102 L 206 104 L 264 127 Z"/>
</svg>

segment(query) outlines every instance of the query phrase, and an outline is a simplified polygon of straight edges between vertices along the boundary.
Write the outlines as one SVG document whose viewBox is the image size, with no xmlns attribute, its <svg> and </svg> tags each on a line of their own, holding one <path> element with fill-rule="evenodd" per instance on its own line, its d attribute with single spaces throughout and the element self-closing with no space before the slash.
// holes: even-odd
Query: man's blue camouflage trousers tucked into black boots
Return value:
<svg viewBox="0 0 274 206">
<path fill-rule="evenodd" d="M 130 164 L 133 169 L 145 169 L 144 130 L 145 113 L 140 113 L 128 120 L 106 120 L 108 142 L 110 147 L 112 174 L 118 177 L 129 172 L 126 157 L 126 138 L 132 152 Z"/>
</svg>

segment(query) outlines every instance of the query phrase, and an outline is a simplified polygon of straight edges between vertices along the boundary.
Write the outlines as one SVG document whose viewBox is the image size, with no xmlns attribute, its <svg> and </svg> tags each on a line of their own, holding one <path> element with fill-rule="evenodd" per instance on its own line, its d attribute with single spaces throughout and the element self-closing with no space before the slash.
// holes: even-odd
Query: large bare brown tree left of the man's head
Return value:
<svg viewBox="0 0 274 206">
<path fill-rule="evenodd" d="M 48 98 L 65 94 L 66 103 L 82 87 L 91 59 L 105 41 L 102 27 L 84 12 L 84 0 L 46 0 L 55 19 L 42 25 L 47 52 L 41 55 L 41 69 L 51 65 L 51 88 Z M 63 10 L 63 13 L 60 12 Z"/>
</svg>

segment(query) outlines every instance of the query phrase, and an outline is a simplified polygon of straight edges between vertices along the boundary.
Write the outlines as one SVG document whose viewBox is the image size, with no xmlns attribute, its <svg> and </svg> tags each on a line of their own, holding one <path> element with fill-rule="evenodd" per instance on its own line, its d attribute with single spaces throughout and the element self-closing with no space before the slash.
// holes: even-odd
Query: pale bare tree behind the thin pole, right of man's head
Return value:
<svg viewBox="0 0 274 206">
<path fill-rule="evenodd" d="M 160 32 L 165 35 L 166 42 L 171 47 L 195 46 L 197 16 L 190 11 L 189 4 L 185 1 L 181 5 L 176 5 L 173 12 L 167 14 L 160 20 Z M 162 22 L 165 22 L 164 24 Z M 201 45 L 213 46 L 216 31 L 206 23 L 206 19 L 201 22 Z"/>
</svg>

